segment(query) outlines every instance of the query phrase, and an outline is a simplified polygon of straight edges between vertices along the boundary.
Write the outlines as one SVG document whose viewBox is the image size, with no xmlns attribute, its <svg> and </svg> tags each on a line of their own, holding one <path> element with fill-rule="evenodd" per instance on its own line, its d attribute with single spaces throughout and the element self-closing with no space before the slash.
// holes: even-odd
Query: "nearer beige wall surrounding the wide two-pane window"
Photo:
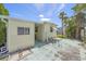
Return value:
<svg viewBox="0 0 86 64">
<path fill-rule="evenodd" d="M 29 35 L 17 35 L 17 27 L 28 27 Z M 9 52 L 33 47 L 35 44 L 35 23 L 9 18 L 7 40 Z"/>
</svg>

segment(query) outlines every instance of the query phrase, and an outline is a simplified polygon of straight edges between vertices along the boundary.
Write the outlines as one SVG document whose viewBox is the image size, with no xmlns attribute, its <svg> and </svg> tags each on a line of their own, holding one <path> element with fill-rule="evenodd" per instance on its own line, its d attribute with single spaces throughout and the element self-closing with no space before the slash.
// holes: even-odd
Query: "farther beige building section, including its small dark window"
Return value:
<svg viewBox="0 0 86 64">
<path fill-rule="evenodd" d="M 57 37 L 57 25 L 50 22 L 42 22 L 36 24 L 37 35 L 36 39 L 46 41 L 48 38 Z"/>
</svg>

